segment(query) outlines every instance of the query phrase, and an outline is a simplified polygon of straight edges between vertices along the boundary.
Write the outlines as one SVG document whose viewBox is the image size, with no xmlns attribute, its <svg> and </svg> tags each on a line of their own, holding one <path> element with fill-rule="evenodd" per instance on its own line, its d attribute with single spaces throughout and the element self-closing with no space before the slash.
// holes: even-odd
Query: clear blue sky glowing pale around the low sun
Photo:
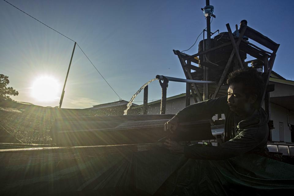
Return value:
<svg viewBox="0 0 294 196">
<path fill-rule="evenodd" d="M 157 74 L 184 78 L 172 50 L 188 49 L 206 27 L 201 11 L 204 0 L 9 2 L 77 41 L 123 100 L 130 100 Z M 210 0 L 210 4 L 217 16 L 212 31 L 226 31 L 227 23 L 234 29 L 246 19 L 248 26 L 281 44 L 273 70 L 294 80 L 292 1 Z M 59 99 L 41 102 L 32 98 L 30 87 L 36 77 L 50 75 L 61 84 L 60 96 L 74 43 L 4 1 L 0 1 L 0 17 L 0 74 L 9 76 L 9 86 L 18 90 L 13 99 L 57 106 Z M 197 45 L 187 54 L 197 53 Z M 62 107 L 66 108 L 119 100 L 78 47 L 65 91 Z M 183 92 L 185 84 L 169 83 L 168 96 Z M 143 100 L 141 94 L 135 101 Z M 160 97 L 161 88 L 155 81 L 149 85 L 149 100 Z"/>
</svg>

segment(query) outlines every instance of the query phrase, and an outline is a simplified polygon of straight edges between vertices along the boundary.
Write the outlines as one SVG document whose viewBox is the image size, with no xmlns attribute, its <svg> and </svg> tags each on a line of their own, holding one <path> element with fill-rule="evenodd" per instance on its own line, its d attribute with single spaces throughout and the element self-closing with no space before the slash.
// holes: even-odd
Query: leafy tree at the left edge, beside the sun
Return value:
<svg viewBox="0 0 294 196">
<path fill-rule="evenodd" d="M 8 76 L 0 74 L 0 101 L 12 100 L 9 95 L 18 95 L 18 92 L 15 89 L 12 87 L 7 87 L 8 84 Z"/>
</svg>

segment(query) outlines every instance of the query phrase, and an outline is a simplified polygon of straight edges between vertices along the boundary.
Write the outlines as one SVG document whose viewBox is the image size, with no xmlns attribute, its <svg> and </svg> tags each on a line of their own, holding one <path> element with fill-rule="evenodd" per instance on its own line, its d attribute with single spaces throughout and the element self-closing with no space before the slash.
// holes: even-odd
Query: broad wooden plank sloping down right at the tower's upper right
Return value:
<svg viewBox="0 0 294 196">
<path fill-rule="evenodd" d="M 254 30 L 253 28 L 250 28 L 249 26 L 247 26 L 247 31 L 244 35 L 250 38 L 251 40 L 254 40 L 257 43 L 260 43 L 261 45 L 269 48 L 272 51 L 274 51 L 277 47 L 277 43 L 275 43 L 268 37 L 262 35 L 260 32 Z"/>
</svg>

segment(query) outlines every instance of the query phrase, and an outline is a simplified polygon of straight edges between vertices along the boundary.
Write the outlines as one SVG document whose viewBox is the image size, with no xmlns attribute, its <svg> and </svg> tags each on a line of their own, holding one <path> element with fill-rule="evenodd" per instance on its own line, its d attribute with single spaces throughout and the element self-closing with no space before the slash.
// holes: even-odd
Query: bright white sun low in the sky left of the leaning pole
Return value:
<svg viewBox="0 0 294 196">
<path fill-rule="evenodd" d="M 59 86 L 53 77 L 38 77 L 32 85 L 32 97 L 39 101 L 54 101 L 57 99 Z"/>
</svg>

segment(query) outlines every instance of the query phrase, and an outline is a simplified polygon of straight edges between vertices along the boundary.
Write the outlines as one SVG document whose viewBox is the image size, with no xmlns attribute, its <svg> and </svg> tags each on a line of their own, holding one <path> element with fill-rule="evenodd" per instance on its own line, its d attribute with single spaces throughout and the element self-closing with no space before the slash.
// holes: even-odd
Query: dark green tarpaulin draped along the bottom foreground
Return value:
<svg viewBox="0 0 294 196">
<path fill-rule="evenodd" d="M 294 190 L 294 165 L 256 154 L 193 160 L 163 147 L 97 154 L 84 149 L 74 156 L 41 152 L 20 152 L 18 160 L 0 153 L 0 195 L 247 195 Z"/>
</svg>

